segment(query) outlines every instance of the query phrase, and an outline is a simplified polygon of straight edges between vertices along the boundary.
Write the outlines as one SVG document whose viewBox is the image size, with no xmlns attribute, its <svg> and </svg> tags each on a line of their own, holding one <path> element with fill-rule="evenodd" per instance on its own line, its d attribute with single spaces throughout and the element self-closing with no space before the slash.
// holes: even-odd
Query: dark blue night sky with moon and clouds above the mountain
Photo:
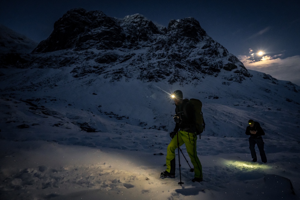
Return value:
<svg viewBox="0 0 300 200">
<path fill-rule="evenodd" d="M 300 85 L 300 0 L 2 0 L 0 23 L 40 42 L 49 37 L 55 21 L 79 7 L 117 18 L 140 13 L 166 27 L 171 19 L 194 17 L 247 69 Z"/>
</svg>

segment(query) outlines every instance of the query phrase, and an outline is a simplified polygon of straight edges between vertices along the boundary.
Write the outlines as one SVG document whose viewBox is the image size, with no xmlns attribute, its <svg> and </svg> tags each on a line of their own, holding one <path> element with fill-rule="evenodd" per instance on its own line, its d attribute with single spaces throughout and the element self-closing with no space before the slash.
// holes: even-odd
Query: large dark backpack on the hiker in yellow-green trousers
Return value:
<svg viewBox="0 0 300 200">
<path fill-rule="evenodd" d="M 191 103 L 193 105 L 193 109 L 195 112 L 195 127 L 196 127 L 196 135 L 199 135 L 199 138 L 201 139 L 200 134 L 205 131 L 205 122 L 203 118 L 203 113 L 202 113 L 202 102 L 198 99 L 190 99 L 188 103 Z M 184 112 L 185 111 L 185 106 L 184 106 Z"/>
</svg>

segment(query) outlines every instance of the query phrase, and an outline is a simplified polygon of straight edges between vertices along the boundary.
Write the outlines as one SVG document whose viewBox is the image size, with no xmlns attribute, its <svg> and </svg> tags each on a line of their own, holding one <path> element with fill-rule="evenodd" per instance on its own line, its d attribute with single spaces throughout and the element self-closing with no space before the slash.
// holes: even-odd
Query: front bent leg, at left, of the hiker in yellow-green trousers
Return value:
<svg viewBox="0 0 300 200">
<path fill-rule="evenodd" d="M 178 139 L 179 139 L 179 146 L 183 145 L 184 142 L 183 142 L 180 134 L 178 135 Z M 173 137 L 173 139 L 171 140 L 171 142 L 167 148 L 167 157 L 166 157 L 167 169 L 166 169 L 166 171 L 169 173 L 175 174 L 175 150 L 176 150 L 177 146 L 178 146 L 177 145 L 177 136 L 175 136 L 175 137 Z"/>
</svg>

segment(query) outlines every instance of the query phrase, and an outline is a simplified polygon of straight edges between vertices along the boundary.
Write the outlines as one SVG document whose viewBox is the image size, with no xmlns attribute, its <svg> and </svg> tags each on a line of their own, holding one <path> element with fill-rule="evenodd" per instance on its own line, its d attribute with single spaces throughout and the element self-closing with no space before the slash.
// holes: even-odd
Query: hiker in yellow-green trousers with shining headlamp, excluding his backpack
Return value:
<svg viewBox="0 0 300 200">
<path fill-rule="evenodd" d="M 174 121 L 176 122 L 175 129 L 170 133 L 172 138 L 167 148 L 166 164 L 167 169 L 161 172 L 162 178 L 174 178 L 175 177 L 175 150 L 179 146 L 185 144 L 187 153 L 194 166 L 194 178 L 193 182 L 202 181 L 202 166 L 196 152 L 196 128 L 194 126 L 195 114 L 194 108 L 188 99 L 183 99 L 182 91 L 176 90 L 174 93 L 174 101 L 176 105 L 176 115 Z M 203 130 L 202 130 L 203 131 Z M 176 136 L 178 134 L 178 136 Z M 175 137 L 176 136 L 176 137 Z"/>
</svg>

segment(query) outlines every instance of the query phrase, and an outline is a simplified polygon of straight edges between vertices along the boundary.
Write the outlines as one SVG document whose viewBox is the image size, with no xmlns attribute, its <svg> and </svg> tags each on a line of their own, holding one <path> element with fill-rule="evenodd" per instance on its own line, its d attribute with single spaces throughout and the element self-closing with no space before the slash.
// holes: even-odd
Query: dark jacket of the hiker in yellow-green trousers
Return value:
<svg viewBox="0 0 300 200">
<path fill-rule="evenodd" d="M 184 99 L 181 105 L 176 105 L 176 115 L 180 118 L 180 123 L 176 123 L 174 132 L 184 130 L 189 133 L 195 133 L 196 129 L 194 127 L 195 121 L 195 111 L 193 109 L 193 104 L 188 103 L 188 99 Z M 184 109 L 185 107 L 185 109 Z"/>
</svg>

